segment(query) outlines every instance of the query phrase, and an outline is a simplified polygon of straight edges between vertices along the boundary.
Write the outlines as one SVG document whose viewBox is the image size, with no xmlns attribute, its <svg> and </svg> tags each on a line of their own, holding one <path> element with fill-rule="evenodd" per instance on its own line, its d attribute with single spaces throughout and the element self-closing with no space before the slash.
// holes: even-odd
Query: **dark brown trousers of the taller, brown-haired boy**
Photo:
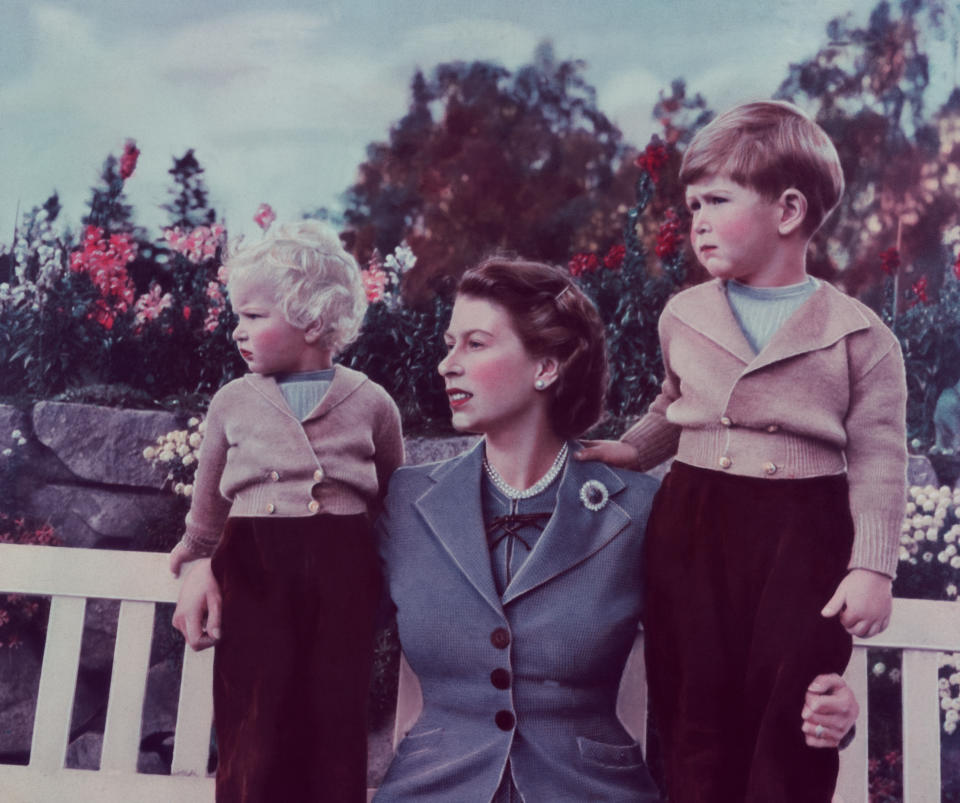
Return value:
<svg viewBox="0 0 960 803">
<path fill-rule="evenodd" d="M 674 462 L 647 529 L 644 606 L 671 803 L 828 803 L 837 751 L 806 746 L 800 712 L 810 681 L 850 658 L 850 636 L 820 610 L 852 543 L 843 475 Z"/>
</svg>

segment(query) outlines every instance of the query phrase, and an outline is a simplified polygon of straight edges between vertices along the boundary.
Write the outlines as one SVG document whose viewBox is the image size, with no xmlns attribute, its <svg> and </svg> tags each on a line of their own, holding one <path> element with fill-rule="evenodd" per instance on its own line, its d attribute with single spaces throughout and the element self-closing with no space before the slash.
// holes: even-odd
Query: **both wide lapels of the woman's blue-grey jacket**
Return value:
<svg viewBox="0 0 960 803">
<path fill-rule="evenodd" d="M 571 452 L 579 448 L 571 442 Z M 616 472 L 603 463 L 568 459 L 557 492 L 557 507 L 501 600 L 483 537 L 482 463 L 483 441 L 462 456 L 437 466 L 430 475 L 435 485 L 415 505 L 459 570 L 498 612 L 588 558 L 631 522 L 615 501 L 616 494 L 625 487 Z M 598 511 L 588 510 L 580 501 L 580 489 L 590 479 L 603 483 L 610 495 Z"/>
</svg>

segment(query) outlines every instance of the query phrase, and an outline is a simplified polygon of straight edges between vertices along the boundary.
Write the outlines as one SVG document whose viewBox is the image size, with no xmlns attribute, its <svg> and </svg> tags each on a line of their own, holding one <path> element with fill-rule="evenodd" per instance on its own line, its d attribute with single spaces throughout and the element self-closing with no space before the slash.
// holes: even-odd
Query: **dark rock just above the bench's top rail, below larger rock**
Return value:
<svg viewBox="0 0 960 803">
<path fill-rule="evenodd" d="M 29 495 L 25 512 L 48 520 L 66 546 L 129 547 L 178 510 L 172 494 L 45 485 Z"/>
</svg>

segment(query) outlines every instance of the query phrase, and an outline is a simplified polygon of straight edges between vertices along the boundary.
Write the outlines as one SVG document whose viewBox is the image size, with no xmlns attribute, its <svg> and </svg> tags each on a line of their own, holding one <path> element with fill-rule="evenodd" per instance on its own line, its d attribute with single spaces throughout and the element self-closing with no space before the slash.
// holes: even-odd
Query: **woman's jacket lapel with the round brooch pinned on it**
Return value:
<svg viewBox="0 0 960 803">
<path fill-rule="evenodd" d="M 577 448 L 571 444 L 571 451 Z M 588 480 L 602 483 L 610 494 L 610 499 L 600 510 L 589 510 L 580 500 L 580 489 Z M 503 604 L 507 605 L 586 560 L 621 533 L 632 521 L 616 502 L 616 495 L 623 488 L 623 480 L 603 463 L 568 460 L 553 516 L 530 556 L 507 586 Z"/>
</svg>

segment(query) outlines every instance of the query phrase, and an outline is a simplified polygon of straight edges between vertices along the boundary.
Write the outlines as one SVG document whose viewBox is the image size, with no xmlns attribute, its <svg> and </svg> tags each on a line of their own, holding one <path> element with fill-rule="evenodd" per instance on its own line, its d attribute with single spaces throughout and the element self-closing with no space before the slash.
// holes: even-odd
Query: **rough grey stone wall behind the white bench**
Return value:
<svg viewBox="0 0 960 803">
<path fill-rule="evenodd" d="M 166 412 L 38 402 L 30 410 L 0 405 L 0 509 L 49 522 L 64 546 L 169 548 L 179 536 L 185 501 L 166 469 L 143 457 L 159 436 L 182 429 Z M 411 438 L 410 463 L 452 457 L 475 438 Z M 0 594 L 0 607 L 4 595 Z M 99 762 L 119 603 L 87 605 L 68 766 Z M 172 749 L 182 642 L 161 607 L 147 681 L 141 770 L 164 772 Z M 42 640 L 0 648 L 0 762 L 29 754 Z"/>
</svg>

